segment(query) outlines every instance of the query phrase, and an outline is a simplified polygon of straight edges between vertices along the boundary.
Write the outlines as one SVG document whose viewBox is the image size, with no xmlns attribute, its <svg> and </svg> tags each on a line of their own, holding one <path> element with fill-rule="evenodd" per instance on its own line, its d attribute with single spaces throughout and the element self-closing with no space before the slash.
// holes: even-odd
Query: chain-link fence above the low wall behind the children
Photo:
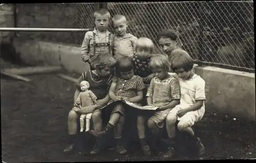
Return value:
<svg viewBox="0 0 256 163">
<path fill-rule="evenodd" d="M 28 6 L 19 5 L 19 9 L 24 12 Z M 20 25 L 30 28 L 94 28 L 94 3 L 40 4 L 35 8 L 34 19 L 42 25 Z M 115 2 L 108 3 L 108 9 L 111 16 L 126 16 L 128 32 L 152 39 L 157 49 L 157 34 L 173 28 L 179 35 L 182 48 L 199 64 L 249 72 L 255 69 L 252 1 Z M 41 16 L 38 18 L 38 11 L 42 10 L 45 17 L 48 16 L 44 18 L 48 22 L 40 19 Z M 17 26 L 21 27 L 18 23 Z M 111 23 L 109 29 L 114 33 Z M 80 46 L 84 34 L 42 32 L 33 37 Z M 31 33 L 28 35 L 31 37 Z"/>
</svg>

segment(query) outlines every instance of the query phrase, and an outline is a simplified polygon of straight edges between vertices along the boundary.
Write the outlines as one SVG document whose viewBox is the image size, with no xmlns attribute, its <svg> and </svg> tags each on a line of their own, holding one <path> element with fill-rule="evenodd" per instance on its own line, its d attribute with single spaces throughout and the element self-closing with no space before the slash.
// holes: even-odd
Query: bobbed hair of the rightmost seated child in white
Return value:
<svg viewBox="0 0 256 163">
<path fill-rule="evenodd" d="M 183 68 L 185 72 L 190 71 L 193 68 L 194 60 L 188 55 L 188 53 L 182 49 L 176 49 L 173 52 L 175 56 L 174 60 L 171 63 L 172 69 Z"/>
</svg>

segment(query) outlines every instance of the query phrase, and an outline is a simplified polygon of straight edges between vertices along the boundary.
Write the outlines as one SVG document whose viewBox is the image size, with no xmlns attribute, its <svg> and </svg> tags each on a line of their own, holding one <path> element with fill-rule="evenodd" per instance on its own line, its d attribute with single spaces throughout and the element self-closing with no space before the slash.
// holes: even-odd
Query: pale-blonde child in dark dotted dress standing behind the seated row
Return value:
<svg viewBox="0 0 256 163">
<path fill-rule="evenodd" d="M 136 54 L 131 58 L 135 63 L 134 75 L 140 76 L 145 84 L 150 84 L 154 74 L 148 63 L 150 63 L 151 56 L 155 52 L 155 45 L 153 41 L 146 37 L 140 37 L 135 45 Z"/>
</svg>

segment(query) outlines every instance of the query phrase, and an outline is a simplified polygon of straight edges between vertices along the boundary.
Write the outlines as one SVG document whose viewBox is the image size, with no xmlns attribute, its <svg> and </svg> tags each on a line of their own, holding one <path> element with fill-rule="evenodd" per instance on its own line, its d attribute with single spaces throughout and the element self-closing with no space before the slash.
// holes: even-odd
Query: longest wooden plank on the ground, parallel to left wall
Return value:
<svg viewBox="0 0 256 163">
<path fill-rule="evenodd" d="M 24 67 L 24 68 L 7 68 L 4 69 L 5 73 L 16 75 L 28 75 L 28 74 L 40 74 L 40 73 L 52 73 L 61 71 L 61 66 L 36 66 L 36 67 Z"/>
</svg>

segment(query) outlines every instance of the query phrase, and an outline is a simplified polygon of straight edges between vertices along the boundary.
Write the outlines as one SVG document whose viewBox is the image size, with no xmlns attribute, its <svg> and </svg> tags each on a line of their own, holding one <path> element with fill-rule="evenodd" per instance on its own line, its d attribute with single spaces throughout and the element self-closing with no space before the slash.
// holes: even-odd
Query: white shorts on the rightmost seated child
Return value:
<svg viewBox="0 0 256 163">
<path fill-rule="evenodd" d="M 200 121 L 203 115 L 200 115 L 200 112 L 197 111 L 189 111 L 185 113 L 182 117 L 178 117 L 176 114 L 178 110 L 188 108 L 189 105 L 176 105 L 172 110 L 169 111 L 170 114 L 176 115 L 178 121 L 185 121 L 189 124 L 189 126 L 193 126 L 196 122 Z"/>
</svg>

